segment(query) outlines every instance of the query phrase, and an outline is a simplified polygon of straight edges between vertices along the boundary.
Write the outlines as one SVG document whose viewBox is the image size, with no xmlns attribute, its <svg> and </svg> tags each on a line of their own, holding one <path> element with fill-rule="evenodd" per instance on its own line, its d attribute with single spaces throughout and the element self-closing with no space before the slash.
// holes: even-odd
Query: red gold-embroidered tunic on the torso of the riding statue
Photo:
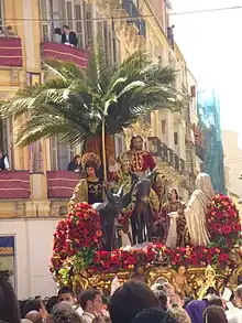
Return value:
<svg viewBox="0 0 242 323">
<path fill-rule="evenodd" d="M 153 171 L 155 161 L 148 151 L 130 151 L 131 172 Z"/>
</svg>

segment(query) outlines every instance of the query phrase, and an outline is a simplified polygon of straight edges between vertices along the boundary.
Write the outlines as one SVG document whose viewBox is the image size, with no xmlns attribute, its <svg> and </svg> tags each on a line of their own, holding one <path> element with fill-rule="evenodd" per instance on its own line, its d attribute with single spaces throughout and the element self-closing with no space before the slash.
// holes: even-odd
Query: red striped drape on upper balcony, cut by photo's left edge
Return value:
<svg viewBox="0 0 242 323">
<path fill-rule="evenodd" d="M 0 37 L 0 66 L 23 66 L 21 39 Z"/>
</svg>

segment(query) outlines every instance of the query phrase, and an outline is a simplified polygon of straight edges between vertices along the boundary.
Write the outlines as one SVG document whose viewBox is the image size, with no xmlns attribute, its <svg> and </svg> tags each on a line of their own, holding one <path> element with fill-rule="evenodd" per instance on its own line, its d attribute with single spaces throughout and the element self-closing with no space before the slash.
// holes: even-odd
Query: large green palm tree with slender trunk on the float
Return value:
<svg viewBox="0 0 242 323">
<path fill-rule="evenodd" d="M 105 172 L 106 132 L 118 133 L 151 110 L 175 107 L 179 101 L 172 87 L 175 71 L 153 64 L 146 53 L 135 52 L 113 66 L 97 50 L 86 71 L 57 61 L 45 65 L 55 78 L 20 89 L 1 104 L 2 117 L 28 116 L 14 129 L 14 143 L 24 147 L 58 134 L 64 142 L 75 144 L 101 136 Z"/>
</svg>

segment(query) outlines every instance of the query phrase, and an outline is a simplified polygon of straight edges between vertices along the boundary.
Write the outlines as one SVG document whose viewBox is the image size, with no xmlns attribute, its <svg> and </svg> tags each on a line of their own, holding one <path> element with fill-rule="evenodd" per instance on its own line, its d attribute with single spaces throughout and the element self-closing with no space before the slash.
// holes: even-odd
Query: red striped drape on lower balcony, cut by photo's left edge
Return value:
<svg viewBox="0 0 242 323">
<path fill-rule="evenodd" d="M 0 200 L 26 200 L 31 197 L 29 171 L 0 171 Z"/>
</svg>

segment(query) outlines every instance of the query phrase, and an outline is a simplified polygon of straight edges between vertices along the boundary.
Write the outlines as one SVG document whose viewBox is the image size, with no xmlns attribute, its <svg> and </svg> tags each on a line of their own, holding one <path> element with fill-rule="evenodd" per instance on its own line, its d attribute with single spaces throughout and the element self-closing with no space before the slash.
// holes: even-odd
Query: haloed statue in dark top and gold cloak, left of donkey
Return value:
<svg viewBox="0 0 242 323">
<path fill-rule="evenodd" d="M 84 165 L 84 179 L 79 181 L 74 190 L 69 206 L 76 205 L 79 202 L 88 204 L 103 202 L 103 183 L 97 176 L 100 168 L 100 159 L 95 153 L 87 153 L 81 159 Z"/>
</svg>

